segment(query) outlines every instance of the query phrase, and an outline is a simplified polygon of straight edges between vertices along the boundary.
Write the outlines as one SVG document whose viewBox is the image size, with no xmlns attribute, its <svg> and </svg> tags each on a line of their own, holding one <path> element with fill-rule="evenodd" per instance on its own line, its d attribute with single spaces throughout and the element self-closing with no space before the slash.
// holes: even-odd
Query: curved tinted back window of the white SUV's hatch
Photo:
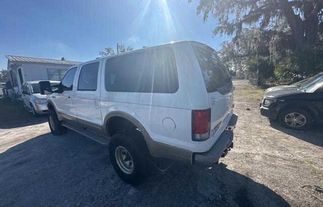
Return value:
<svg viewBox="0 0 323 207">
<path fill-rule="evenodd" d="M 207 93 L 218 91 L 226 94 L 231 91 L 231 77 L 217 52 L 201 43 L 192 43 L 192 47 L 201 68 Z"/>
</svg>

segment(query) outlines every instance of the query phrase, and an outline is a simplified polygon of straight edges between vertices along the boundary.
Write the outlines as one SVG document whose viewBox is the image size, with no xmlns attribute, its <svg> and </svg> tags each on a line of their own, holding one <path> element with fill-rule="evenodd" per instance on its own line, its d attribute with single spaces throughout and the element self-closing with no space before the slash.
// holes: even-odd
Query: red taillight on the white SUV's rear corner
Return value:
<svg viewBox="0 0 323 207">
<path fill-rule="evenodd" d="M 201 142 L 210 137 L 211 109 L 192 110 L 192 140 Z"/>
</svg>

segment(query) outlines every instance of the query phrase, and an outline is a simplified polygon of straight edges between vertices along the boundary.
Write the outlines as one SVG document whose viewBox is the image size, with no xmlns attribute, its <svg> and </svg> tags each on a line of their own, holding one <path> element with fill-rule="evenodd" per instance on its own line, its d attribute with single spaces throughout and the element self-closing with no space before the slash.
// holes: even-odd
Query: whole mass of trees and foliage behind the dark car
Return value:
<svg viewBox="0 0 323 207">
<path fill-rule="evenodd" d="M 259 71 L 263 82 L 322 71 L 323 1 L 199 0 L 197 14 L 217 19 L 213 35 L 233 36 L 219 54 L 238 74 Z"/>
</svg>

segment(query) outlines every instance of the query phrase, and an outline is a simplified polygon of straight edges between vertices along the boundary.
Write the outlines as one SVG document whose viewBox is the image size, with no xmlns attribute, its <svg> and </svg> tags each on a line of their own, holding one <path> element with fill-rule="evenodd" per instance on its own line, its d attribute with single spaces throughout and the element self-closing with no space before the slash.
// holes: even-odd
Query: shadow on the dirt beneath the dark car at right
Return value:
<svg viewBox="0 0 323 207">
<path fill-rule="evenodd" d="M 319 124 L 311 126 L 308 130 L 294 130 L 281 126 L 277 121 L 270 120 L 271 127 L 292 135 L 300 140 L 323 147 L 323 128 Z"/>
</svg>

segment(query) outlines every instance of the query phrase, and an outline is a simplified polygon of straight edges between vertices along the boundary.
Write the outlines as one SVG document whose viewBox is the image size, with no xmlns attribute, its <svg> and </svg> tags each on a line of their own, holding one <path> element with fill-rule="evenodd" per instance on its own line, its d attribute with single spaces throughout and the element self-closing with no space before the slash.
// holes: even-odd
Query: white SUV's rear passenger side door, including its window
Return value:
<svg viewBox="0 0 323 207">
<path fill-rule="evenodd" d="M 102 116 L 99 106 L 102 59 L 80 65 L 74 93 L 77 120 L 80 124 L 101 132 Z"/>
</svg>

